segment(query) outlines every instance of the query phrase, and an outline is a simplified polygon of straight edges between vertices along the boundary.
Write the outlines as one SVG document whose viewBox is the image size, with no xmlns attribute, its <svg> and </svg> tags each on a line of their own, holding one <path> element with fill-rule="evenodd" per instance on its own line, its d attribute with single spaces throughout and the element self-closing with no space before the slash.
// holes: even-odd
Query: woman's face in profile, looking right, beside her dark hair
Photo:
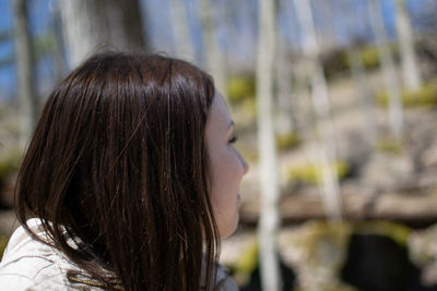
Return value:
<svg viewBox="0 0 437 291">
<path fill-rule="evenodd" d="M 211 203 L 223 239 L 237 228 L 240 204 L 238 187 L 249 166 L 234 147 L 234 122 L 217 92 L 210 108 L 205 134 L 211 163 Z"/>
</svg>

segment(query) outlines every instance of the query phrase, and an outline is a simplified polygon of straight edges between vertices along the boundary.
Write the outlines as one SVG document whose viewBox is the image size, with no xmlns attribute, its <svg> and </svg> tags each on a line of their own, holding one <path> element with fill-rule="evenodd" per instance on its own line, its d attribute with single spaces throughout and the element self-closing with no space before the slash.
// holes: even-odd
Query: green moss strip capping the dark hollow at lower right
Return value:
<svg viewBox="0 0 437 291">
<path fill-rule="evenodd" d="M 361 234 L 380 234 L 394 240 L 401 245 L 406 245 L 411 229 L 391 221 L 364 221 L 355 225 L 355 233 Z"/>
</svg>

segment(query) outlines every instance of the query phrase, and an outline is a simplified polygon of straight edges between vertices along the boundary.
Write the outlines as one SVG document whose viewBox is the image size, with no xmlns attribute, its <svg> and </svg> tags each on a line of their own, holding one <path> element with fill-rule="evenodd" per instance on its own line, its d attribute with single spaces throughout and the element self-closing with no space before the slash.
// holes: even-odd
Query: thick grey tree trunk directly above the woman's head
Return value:
<svg viewBox="0 0 437 291">
<path fill-rule="evenodd" d="M 145 49 L 139 0 L 60 0 L 60 9 L 71 66 L 102 49 Z"/>
</svg>

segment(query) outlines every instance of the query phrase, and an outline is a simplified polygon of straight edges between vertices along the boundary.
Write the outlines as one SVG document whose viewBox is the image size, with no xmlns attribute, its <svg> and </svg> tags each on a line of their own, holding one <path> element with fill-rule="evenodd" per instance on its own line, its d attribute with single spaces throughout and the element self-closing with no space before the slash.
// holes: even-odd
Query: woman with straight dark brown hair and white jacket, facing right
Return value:
<svg viewBox="0 0 437 291">
<path fill-rule="evenodd" d="M 4 290 L 236 290 L 216 264 L 248 166 L 212 78 L 97 54 L 51 93 L 16 187 Z"/>
</svg>

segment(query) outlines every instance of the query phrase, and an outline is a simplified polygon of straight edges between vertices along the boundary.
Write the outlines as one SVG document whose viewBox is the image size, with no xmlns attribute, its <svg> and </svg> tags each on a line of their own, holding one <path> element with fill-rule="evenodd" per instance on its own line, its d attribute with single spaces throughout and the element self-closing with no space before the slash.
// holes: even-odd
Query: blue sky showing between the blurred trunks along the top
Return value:
<svg viewBox="0 0 437 291">
<path fill-rule="evenodd" d="M 161 51 L 173 52 L 174 37 L 169 21 L 169 3 L 168 0 L 141 0 L 144 26 L 147 28 L 150 43 L 153 47 Z M 197 58 L 201 59 L 202 54 L 202 34 L 199 17 L 196 15 L 200 0 L 182 0 L 188 8 L 188 19 L 191 33 L 191 40 L 194 46 Z M 393 25 L 393 1 L 380 0 L 382 3 L 386 27 L 389 34 L 394 37 L 395 31 Z M 0 0 L 0 32 L 12 32 L 13 20 L 11 13 L 10 0 Z M 214 0 L 212 1 L 214 2 Z M 368 37 L 369 23 L 367 13 L 365 13 L 366 0 L 330 0 L 333 5 L 344 3 L 353 4 L 355 13 L 353 15 L 355 22 L 354 35 Z M 409 8 L 413 19 L 422 17 L 423 13 L 434 13 L 437 15 L 437 0 L 408 0 Z M 38 36 L 49 31 L 52 25 L 51 7 L 57 0 L 33 0 L 28 1 L 31 13 L 31 29 L 33 36 Z M 257 37 L 257 1 L 256 0 L 216 0 L 218 7 L 227 7 L 227 21 L 218 27 L 217 39 L 220 45 L 225 49 L 227 58 L 234 62 L 252 63 L 256 52 Z M 295 12 L 292 0 L 280 1 L 279 29 L 281 36 L 284 37 L 286 44 L 292 47 L 298 47 L 299 33 L 296 23 Z M 332 25 L 335 32 L 336 43 L 347 45 L 351 40 L 350 29 L 345 27 L 344 15 L 338 15 L 339 10 L 333 10 L 334 17 L 332 23 L 323 21 L 323 13 L 327 13 L 323 7 L 318 5 L 326 3 L 324 0 L 312 0 L 314 16 L 316 27 L 319 32 L 326 33 L 327 26 Z M 424 7 L 432 8 L 434 11 L 423 11 Z M 336 14 L 335 14 L 336 13 Z M 421 14 L 422 13 L 422 14 Z M 436 16 L 437 17 L 437 16 Z M 12 41 L 0 43 L 0 59 L 13 53 L 14 45 Z M 45 58 L 38 63 L 36 83 L 39 90 L 50 86 L 50 78 L 54 78 L 52 60 Z M 0 100 L 9 99 L 15 88 L 14 65 L 0 66 Z M 47 85 L 48 84 L 48 85 Z M 42 89 L 43 87 L 43 89 Z"/>
</svg>

